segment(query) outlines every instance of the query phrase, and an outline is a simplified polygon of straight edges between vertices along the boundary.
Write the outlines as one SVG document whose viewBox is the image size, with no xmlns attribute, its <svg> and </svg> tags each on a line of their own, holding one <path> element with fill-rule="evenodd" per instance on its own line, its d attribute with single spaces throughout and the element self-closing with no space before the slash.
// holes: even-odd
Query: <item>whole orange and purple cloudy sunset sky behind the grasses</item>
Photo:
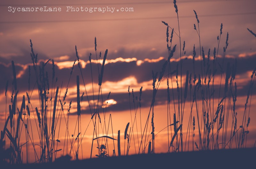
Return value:
<svg viewBox="0 0 256 169">
<path fill-rule="evenodd" d="M 187 70 L 192 71 L 194 45 L 196 50 L 196 70 L 200 71 L 199 38 L 196 30 L 194 29 L 196 17 L 193 10 L 195 10 L 200 21 L 199 28 L 201 46 L 204 47 L 206 55 L 210 48 L 210 56 L 212 57 L 214 47 L 218 47 L 217 36 L 220 35 L 221 23 L 223 24 L 223 33 L 221 35 L 220 50 L 218 53 L 218 57 L 220 58 L 223 56 L 223 47 L 226 43 L 227 33 L 229 34 L 224 65 L 228 62 L 232 65 L 235 62 L 235 58 L 237 59 L 237 73 L 235 81 L 237 83 L 238 98 L 236 109 L 238 115 L 239 112 L 241 114 L 244 113 L 244 103 L 246 102 L 247 90 L 249 82 L 251 81 L 252 71 L 256 65 L 256 38 L 247 30 L 247 28 L 249 28 L 253 32 L 256 32 L 255 0 L 177 0 L 177 5 L 180 22 L 181 45 L 183 44 L 183 41 L 185 41 L 186 55 L 184 58 L 188 58 L 183 64 L 184 70 L 182 70 L 182 74 L 186 74 Z M 61 8 L 61 11 L 13 12 L 13 8 L 16 8 L 17 10 L 17 8 L 23 7 L 41 8 L 44 6 L 47 6 L 46 9 L 49 7 Z M 67 11 L 67 6 L 79 8 L 79 11 Z M 81 7 L 82 9 L 109 7 L 113 12 L 85 12 L 81 11 Z M 122 8 L 132 8 L 133 11 L 122 12 Z M 8 9 L 12 9 L 12 11 L 8 11 Z M 135 96 L 138 97 L 140 87 L 143 87 L 141 96 L 141 112 L 143 112 L 142 116 L 145 116 L 143 119 L 144 122 L 147 118 L 146 116 L 148 115 L 152 99 L 151 72 L 152 70 L 154 72 L 160 72 L 162 65 L 168 58 L 168 50 L 166 48 L 166 25 L 161 21 L 168 23 L 168 25 L 173 28 L 177 34 L 179 34 L 177 14 L 173 7 L 173 1 L 111 0 L 108 1 L 108 3 L 103 0 L 99 0 L 97 2 L 92 0 L 76 0 L 72 2 L 68 0 L 54 2 L 51 0 L 1 1 L 0 130 L 3 130 L 2 128 L 4 126 L 5 119 L 4 91 L 7 80 L 9 80 L 7 108 L 11 99 L 13 79 L 12 60 L 15 63 L 17 71 L 17 86 L 20 93 L 18 107 L 20 107 L 22 95 L 26 96 L 26 92 L 28 91 L 28 66 L 30 65 L 31 70 L 33 70 L 33 64 L 30 57 L 30 39 L 32 40 L 35 53 L 38 53 L 39 61 L 46 62 L 49 59 L 54 60 L 56 77 L 58 77 L 57 86 L 60 87 L 62 83 L 63 88 L 61 90 L 60 97 L 63 97 L 65 94 L 71 67 L 74 60 L 77 59 L 75 51 L 76 46 L 80 64 L 84 71 L 86 90 L 89 95 L 89 99 L 92 101 L 92 81 L 89 55 L 92 53 L 93 83 L 95 85 L 94 90 L 97 93 L 98 70 L 94 50 L 94 38 L 96 37 L 97 56 L 99 57 L 99 53 L 101 51 L 101 62 L 105 50 L 108 49 L 103 75 L 102 95 L 103 101 L 105 102 L 107 100 L 108 93 L 111 92 L 109 99 L 112 100 L 108 102 L 107 116 L 109 118 L 109 113 L 111 113 L 115 133 L 114 137 L 117 139 L 117 130 L 121 130 L 121 133 L 124 133 L 126 124 L 128 122 L 131 123 L 128 95 L 129 86 L 130 92 L 133 89 Z M 173 70 L 176 69 L 177 63 L 180 63 L 180 41 L 176 33 L 173 33 L 172 41 L 172 46 L 177 44 L 176 52 L 171 60 L 171 66 L 174 67 Z M 171 29 L 169 29 L 169 34 L 171 34 Z M 51 72 L 52 61 L 47 64 L 46 70 Z M 33 73 L 31 74 L 32 79 L 35 77 Z M 77 62 L 69 83 L 67 96 L 67 104 L 71 100 L 74 102 L 74 107 L 70 110 L 70 113 L 75 115 L 76 75 L 80 75 Z M 220 72 L 216 73 L 216 76 L 218 77 L 216 78 L 216 83 L 220 83 L 218 80 L 220 79 L 220 75 Z M 185 83 L 185 76 L 183 78 L 183 83 Z M 80 77 L 80 80 L 81 79 L 82 78 Z M 161 82 L 156 96 L 156 133 L 167 126 L 166 83 L 166 79 Z M 173 79 L 173 83 L 176 85 L 176 79 Z M 33 81 L 33 85 L 34 84 L 35 79 Z M 84 85 L 82 85 L 81 81 L 80 84 L 80 94 L 82 94 L 82 92 L 85 92 Z M 185 85 L 183 85 L 183 87 L 184 86 Z M 223 88 L 224 87 L 222 86 L 222 90 Z M 35 92 L 35 97 L 31 98 L 35 99 L 35 102 L 36 99 L 38 99 L 36 94 L 37 91 Z M 250 138 L 248 146 L 253 146 L 256 140 L 255 94 L 254 84 L 250 107 L 251 122 L 249 127 L 250 136 L 248 135 Z M 177 95 L 175 95 L 175 97 L 176 96 Z M 88 102 L 85 96 L 84 100 L 85 101 L 81 103 L 81 116 L 84 115 L 84 117 L 81 118 L 87 119 L 83 122 L 83 125 L 86 127 L 91 115 L 88 111 Z M 90 103 L 93 103 L 93 101 Z M 190 105 L 188 106 L 188 109 L 185 108 L 185 110 L 190 112 Z M 239 118 L 242 118 L 241 116 Z M 73 118 L 75 123 L 76 116 L 71 118 Z M 185 118 L 185 121 L 188 121 L 188 118 Z M 70 128 L 73 130 L 72 127 Z M 164 130 L 162 133 L 164 134 L 166 132 L 167 130 Z M 167 152 L 166 147 L 168 146 L 168 142 L 164 142 L 161 138 L 165 137 L 162 136 L 156 138 L 159 142 L 159 144 L 156 143 L 156 152 Z M 91 145 L 91 139 L 88 141 L 88 144 Z M 110 155 L 112 154 L 110 153 Z M 86 155 L 86 157 L 89 156 Z"/>
</svg>

